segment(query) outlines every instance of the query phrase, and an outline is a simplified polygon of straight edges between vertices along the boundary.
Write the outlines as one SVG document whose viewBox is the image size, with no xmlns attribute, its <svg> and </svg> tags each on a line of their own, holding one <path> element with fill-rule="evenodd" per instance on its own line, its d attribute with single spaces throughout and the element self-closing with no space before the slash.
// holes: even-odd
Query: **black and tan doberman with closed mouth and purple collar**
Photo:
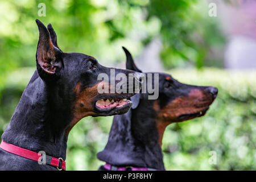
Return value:
<svg viewBox="0 0 256 182">
<path fill-rule="evenodd" d="M 126 68 L 142 72 L 123 49 Z M 212 86 L 186 85 L 159 73 L 158 99 L 148 100 L 148 93 L 140 92 L 131 97 L 133 106 L 126 114 L 114 116 L 108 143 L 97 154 L 106 162 L 99 170 L 164 170 L 161 146 L 166 127 L 203 116 L 217 93 Z"/>
</svg>

